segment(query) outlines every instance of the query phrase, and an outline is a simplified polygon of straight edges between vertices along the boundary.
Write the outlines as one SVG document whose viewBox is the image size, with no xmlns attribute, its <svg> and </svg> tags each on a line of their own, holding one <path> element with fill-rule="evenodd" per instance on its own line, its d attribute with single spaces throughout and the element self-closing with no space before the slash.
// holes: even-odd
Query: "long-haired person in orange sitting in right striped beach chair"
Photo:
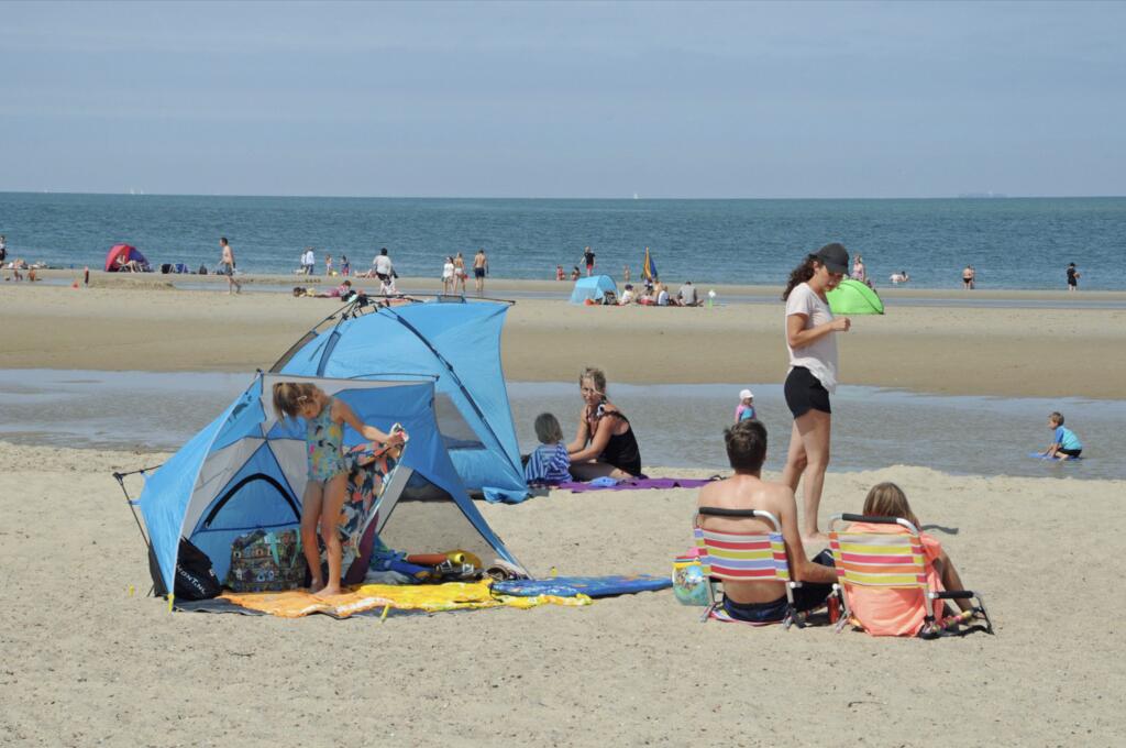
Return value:
<svg viewBox="0 0 1126 748">
<path fill-rule="evenodd" d="M 868 491 L 864 501 L 864 514 L 875 517 L 899 517 L 906 519 L 915 528 L 919 518 L 911 511 L 908 497 L 895 483 L 877 483 Z M 903 532 L 897 525 L 874 525 L 855 523 L 849 528 L 858 533 L 895 533 Z M 942 545 L 920 532 L 922 553 L 927 566 L 927 584 L 935 591 L 947 589 L 965 589 L 962 578 Z M 923 625 L 923 605 L 920 605 L 919 593 L 911 589 L 881 589 L 878 587 L 850 586 L 848 590 L 849 607 L 852 616 L 865 630 L 876 636 L 913 636 Z M 963 611 L 969 608 L 968 599 L 955 600 Z M 933 600 L 935 617 L 944 616 L 944 600 Z"/>
</svg>

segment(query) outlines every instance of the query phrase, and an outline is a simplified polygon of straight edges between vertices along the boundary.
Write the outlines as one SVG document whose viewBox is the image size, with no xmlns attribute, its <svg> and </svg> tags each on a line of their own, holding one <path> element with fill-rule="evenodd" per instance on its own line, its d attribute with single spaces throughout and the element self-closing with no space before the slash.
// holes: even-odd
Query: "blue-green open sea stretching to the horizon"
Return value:
<svg viewBox="0 0 1126 748">
<path fill-rule="evenodd" d="M 551 278 L 591 246 L 598 269 L 637 277 L 646 246 L 662 277 L 780 284 L 804 252 L 842 241 L 869 275 L 896 270 L 923 288 L 1064 288 L 1067 262 L 1081 288 L 1126 287 L 1126 198 L 586 201 L 214 197 L 0 193 L 9 253 L 53 265 L 98 266 L 117 242 L 154 265 L 214 266 L 218 237 L 240 269 L 288 273 L 302 248 L 367 267 L 387 247 L 404 276 L 440 274 L 445 255 L 490 255 L 492 274 Z"/>
</svg>

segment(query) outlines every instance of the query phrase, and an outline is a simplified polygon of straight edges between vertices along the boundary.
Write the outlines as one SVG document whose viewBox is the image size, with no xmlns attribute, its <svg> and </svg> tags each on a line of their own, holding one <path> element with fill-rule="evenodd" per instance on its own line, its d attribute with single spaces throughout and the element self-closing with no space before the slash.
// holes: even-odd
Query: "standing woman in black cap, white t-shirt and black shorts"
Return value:
<svg viewBox="0 0 1126 748">
<path fill-rule="evenodd" d="M 786 404 L 794 415 L 789 452 L 781 482 L 795 492 L 805 478 L 802 500 L 802 540 L 824 541 L 817 529 L 821 489 L 829 466 L 832 410 L 829 394 L 837 390 L 837 333 L 847 332 L 847 317 L 833 319 L 825 293 L 848 273 L 848 251 L 833 242 L 810 255 L 789 274 L 783 293 L 786 302 Z"/>
</svg>

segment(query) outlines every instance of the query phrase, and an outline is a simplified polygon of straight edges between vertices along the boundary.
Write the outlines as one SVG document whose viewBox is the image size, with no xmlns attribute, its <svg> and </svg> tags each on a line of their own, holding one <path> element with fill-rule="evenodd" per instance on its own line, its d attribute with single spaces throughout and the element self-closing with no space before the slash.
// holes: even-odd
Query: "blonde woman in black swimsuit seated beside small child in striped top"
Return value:
<svg viewBox="0 0 1126 748">
<path fill-rule="evenodd" d="M 641 475 L 641 451 L 629 419 L 606 399 L 606 375 L 587 368 L 579 376 L 583 406 L 579 431 L 568 445 L 571 474 L 577 480 Z"/>
</svg>

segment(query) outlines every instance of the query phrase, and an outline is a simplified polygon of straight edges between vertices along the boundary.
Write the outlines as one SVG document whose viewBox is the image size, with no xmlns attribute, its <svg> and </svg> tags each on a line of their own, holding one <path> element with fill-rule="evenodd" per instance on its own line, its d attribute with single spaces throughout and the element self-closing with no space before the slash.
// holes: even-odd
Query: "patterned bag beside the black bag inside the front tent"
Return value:
<svg viewBox="0 0 1126 748">
<path fill-rule="evenodd" d="M 296 529 L 256 529 L 231 543 L 226 586 L 236 593 L 279 593 L 305 584 L 307 564 Z"/>
</svg>

